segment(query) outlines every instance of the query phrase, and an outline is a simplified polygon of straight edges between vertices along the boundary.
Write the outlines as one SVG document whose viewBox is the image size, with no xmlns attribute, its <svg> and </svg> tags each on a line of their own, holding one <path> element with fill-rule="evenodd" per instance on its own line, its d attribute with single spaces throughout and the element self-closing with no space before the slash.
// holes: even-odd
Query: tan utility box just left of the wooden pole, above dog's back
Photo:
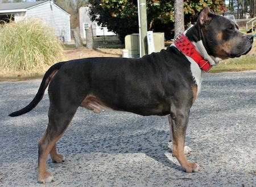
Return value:
<svg viewBox="0 0 256 187">
<path fill-rule="evenodd" d="M 128 50 L 129 58 L 139 57 L 139 34 L 125 36 L 125 49 Z"/>
</svg>

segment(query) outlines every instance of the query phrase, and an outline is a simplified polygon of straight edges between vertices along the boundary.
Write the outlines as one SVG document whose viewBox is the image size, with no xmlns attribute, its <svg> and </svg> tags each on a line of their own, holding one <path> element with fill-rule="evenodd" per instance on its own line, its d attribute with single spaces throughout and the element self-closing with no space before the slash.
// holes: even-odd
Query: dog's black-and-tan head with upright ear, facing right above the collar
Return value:
<svg viewBox="0 0 256 187">
<path fill-rule="evenodd" d="M 212 65 L 221 59 L 247 54 L 253 44 L 253 36 L 240 32 L 236 23 L 213 14 L 209 7 L 201 11 L 196 28 L 200 32 L 198 40 L 203 42 L 206 52 L 215 62 Z"/>
</svg>

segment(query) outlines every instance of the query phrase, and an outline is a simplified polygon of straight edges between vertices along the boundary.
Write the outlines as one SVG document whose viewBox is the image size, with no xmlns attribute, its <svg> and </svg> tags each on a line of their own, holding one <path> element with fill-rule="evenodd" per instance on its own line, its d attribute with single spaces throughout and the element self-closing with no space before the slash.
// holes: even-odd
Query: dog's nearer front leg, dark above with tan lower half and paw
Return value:
<svg viewBox="0 0 256 187">
<path fill-rule="evenodd" d="M 172 110 L 173 109 L 173 110 Z M 170 122 L 170 136 L 172 138 L 172 156 L 175 156 L 185 172 L 200 171 L 198 164 L 188 162 L 184 155 L 185 133 L 188 124 L 189 109 L 171 108 L 171 115 L 168 117 Z"/>
</svg>

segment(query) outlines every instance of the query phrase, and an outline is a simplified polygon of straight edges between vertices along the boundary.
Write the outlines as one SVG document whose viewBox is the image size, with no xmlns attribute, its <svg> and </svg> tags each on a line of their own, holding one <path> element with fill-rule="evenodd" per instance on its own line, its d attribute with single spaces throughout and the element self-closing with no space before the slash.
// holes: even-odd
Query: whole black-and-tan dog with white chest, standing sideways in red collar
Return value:
<svg viewBox="0 0 256 187">
<path fill-rule="evenodd" d="M 38 143 L 38 182 L 51 182 L 47 156 L 64 162 L 57 154 L 61 138 L 79 106 L 100 113 L 109 108 L 143 116 L 168 116 L 172 155 L 185 172 L 201 168 L 184 155 L 189 111 L 200 92 L 203 74 L 222 59 L 249 52 L 253 36 L 238 31 L 232 20 L 205 7 L 197 23 L 177 36 L 174 44 L 142 58 L 84 58 L 59 62 L 48 69 L 38 93 L 27 107 L 11 113 L 30 112 L 48 87 L 48 127 Z"/>
</svg>

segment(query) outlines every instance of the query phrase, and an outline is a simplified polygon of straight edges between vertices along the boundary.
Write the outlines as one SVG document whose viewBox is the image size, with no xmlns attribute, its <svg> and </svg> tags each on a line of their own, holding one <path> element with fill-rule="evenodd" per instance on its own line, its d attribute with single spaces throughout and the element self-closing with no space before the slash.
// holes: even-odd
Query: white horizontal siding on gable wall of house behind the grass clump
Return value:
<svg viewBox="0 0 256 187">
<path fill-rule="evenodd" d="M 27 9 L 26 16 L 42 18 L 55 28 L 56 35 L 64 42 L 71 41 L 71 29 L 69 14 L 56 6 L 46 2 Z"/>
</svg>

